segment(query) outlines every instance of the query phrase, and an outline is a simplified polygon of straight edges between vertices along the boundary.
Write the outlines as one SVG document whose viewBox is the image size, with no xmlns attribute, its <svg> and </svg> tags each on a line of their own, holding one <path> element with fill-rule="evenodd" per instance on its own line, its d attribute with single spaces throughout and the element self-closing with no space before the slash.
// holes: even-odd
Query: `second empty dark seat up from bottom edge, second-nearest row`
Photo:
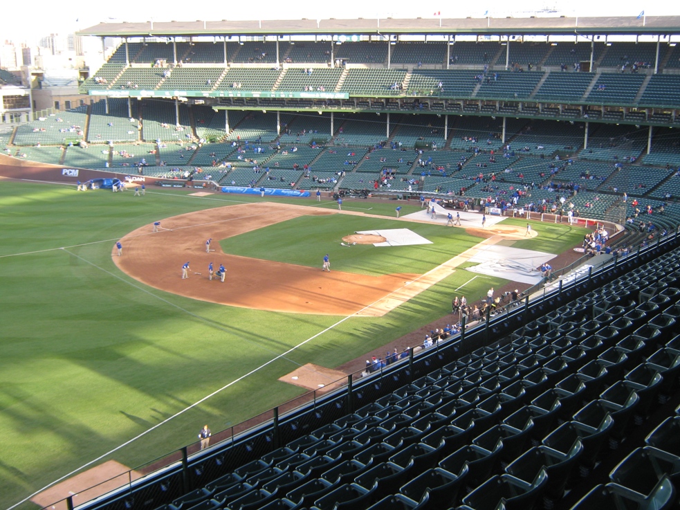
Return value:
<svg viewBox="0 0 680 510">
<path fill-rule="evenodd" d="M 526 483 L 531 483 L 540 470 L 544 469 L 548 475 L 545 495 L 558 500 L 564 495 L 569 476 L 582 453 L 583 444 L 580 440 L 577 440 L 566 454 L 541 445 L 517 457 L 514 462 L 508 464 L 505 472 Z"/>
</svg>

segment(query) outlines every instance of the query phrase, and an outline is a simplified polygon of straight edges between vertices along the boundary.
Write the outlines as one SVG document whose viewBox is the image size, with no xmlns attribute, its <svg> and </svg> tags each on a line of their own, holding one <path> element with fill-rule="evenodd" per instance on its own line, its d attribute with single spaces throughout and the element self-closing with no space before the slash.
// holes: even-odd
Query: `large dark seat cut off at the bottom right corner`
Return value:
<svg viewBox="0 0 680 510">
<path fill-rule="evenodd" d="M 627 510 L 666 510 L 671 507 L 675 500 L 673 484 L 664 477 L 654 491 L 647 497 L 623 489 L 616 484 L 595 486 L 589 493 L 581 498 L 571 510 L 601 510 L 601 509 L 627 509 Z"/>
</svg>

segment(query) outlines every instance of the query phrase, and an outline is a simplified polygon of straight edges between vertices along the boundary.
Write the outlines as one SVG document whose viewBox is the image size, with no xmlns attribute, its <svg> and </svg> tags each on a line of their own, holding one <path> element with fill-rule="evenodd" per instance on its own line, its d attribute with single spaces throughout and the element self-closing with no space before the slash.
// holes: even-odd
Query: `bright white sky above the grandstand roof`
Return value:
<svg viewBox="0 0 680 510">
<path fill-rule="evenodd" d="M 140 0 L 85 1 L 71 10 L 68 3 L 54 8 L 53 0 L 33 0 L 28 4 L 20 1 L 6 2 L 0 21 L 0 39 L 14 41 L 37 40 L 50 33 L 73 33 L 102 21 L 195 21 L 196 19 L 356 19 L 364 18 L 416 18 L 433 17 L 441 12 L 443 18 L 528 17 L 542 10 L 557 10 L 565 16 L 637 16 L 642 11 L 647 16 L 680 15 L 680 3 L 668 0 L 522 0 L 508 2 L 481 0 L 475 2 L 452 2 L 432 0 L 427 2 L 392 0 L 390 2 L 367 2 L 343 0 L 342 2 L 276 2 L 264 0 L 250 2 L 214 3 L 210 9 L 193 12 L 185 0 L 162 2 Z M 462 5 L 461 5 L 462 4 Z M 73 4 L 76 5 L 76 4 Z M 366 6 L 369 5 L 369 8 Z M 187 7 L 189 6 L 189 7 Z M 209 12 L 209 14 L 206 14 Z"/>
</svg>

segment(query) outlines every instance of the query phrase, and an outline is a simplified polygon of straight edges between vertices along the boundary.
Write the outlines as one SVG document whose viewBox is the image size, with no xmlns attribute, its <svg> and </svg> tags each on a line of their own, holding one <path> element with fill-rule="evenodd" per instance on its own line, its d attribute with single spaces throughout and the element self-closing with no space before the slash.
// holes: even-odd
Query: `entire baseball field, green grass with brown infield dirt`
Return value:
<svg viewBox="0 0 680 510">
<path fill-rule="evenodd" d="M 196 441 L 204 424 L 239 424 L 306 391 L 280 377 L 307 363 L 339 367 L 444 318 L 455 293 L 472 301 L 506 283 L 459 264 L 385 304 L 488 237 L 396 220 L 390 201 L 347 200 L 340 214 L 313 199 L 0 189 L 2 508 L 80 468 L 150 462 Z M 401 214 L 417 210 L 403 203 Z M 526 222 L 505 224 L 523 232 Z M 432 244 L 340 244 L 405 226 Z M 584 233 L 533 230 L 506 243 L 559 254 Z M 321 271 L 326 253 L 331 273 Z M 226 282 L 208 280 L 208 262 L 226 266 Z"/>
</svg>

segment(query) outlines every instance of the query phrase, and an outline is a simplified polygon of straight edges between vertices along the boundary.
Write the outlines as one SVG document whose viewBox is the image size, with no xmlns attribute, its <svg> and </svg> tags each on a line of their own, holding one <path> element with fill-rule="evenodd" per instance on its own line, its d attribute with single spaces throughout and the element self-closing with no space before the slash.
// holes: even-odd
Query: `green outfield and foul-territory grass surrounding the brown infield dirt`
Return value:
<svg viewBox="0 0 680 510">
<path fill-rule="evenodd" d="M 10 181 L 3 181 L 1 187 L 2 507 L 219 388 L 228 385 L 102 460 L 138 466 L 195 441 L 203 424 L 213 431 L 238 424 L 302 393 L 277 381 L 299 365 L 335 367 L 351 361 L 444 317 L 454 293 L 465 293 L 471 301 L 484 295 L 489 286 L 505 283 L 492 277 L 473 280 L 470 273 L 455 271 L 384 317 L 350 318 L 304 343 L 338 318 L 269 313 L 183 298 L 140 284 L 111 260 L 113 242 L 135 228 L 185 212 L 261 201 L 259 197 L 200 199 L 165 190 L 133 197 L 131 193 L 78 193 L 60 185 Z M 277 201 L 317 206 L 311 200 Z M 373 207 L 370 212 L 378 214 L 394 212 L 394 203 L 354 203 Z M 435 226 L 422 228 L 425 237 L 439 239 L 434 230 L 428 230 Z M 452 235 L 450 230 L 454 229 L 441 227 L 446 236 Z M 450 242 L 446 250 L 454 244 L 462 250 L 472 242 L 466 236 L 460 239 L 460 245 Z M 439 240 L 428 246 L 436 253 L 438 244 Z M 285 248 L 270 250 L 271 256 L 290 256 Z M 338 246 L 333 262 L 341 262 L 340 249 L 350 252 L 354 248 Z M 350 253 L 361 253 L 361 249 Z M 298 257 L 309 256 L 309 264 L 318 264 L 316 253 L 304 252 L 298 250 Z M 425 258 L 423 252 L 414 254 Z M 453 255 L 428 255 L 425 262 L 434 264 L 440 256 Z M 356 270 L 377 271 L 367 260 L 358 259 Z M 425 262 L 412 257 L 408 264 L 424 267 Z M 349 264 L 349 260 L 342 263 Z M 238 381 L 296 345 L 300 347 Z"/>
</svg>

